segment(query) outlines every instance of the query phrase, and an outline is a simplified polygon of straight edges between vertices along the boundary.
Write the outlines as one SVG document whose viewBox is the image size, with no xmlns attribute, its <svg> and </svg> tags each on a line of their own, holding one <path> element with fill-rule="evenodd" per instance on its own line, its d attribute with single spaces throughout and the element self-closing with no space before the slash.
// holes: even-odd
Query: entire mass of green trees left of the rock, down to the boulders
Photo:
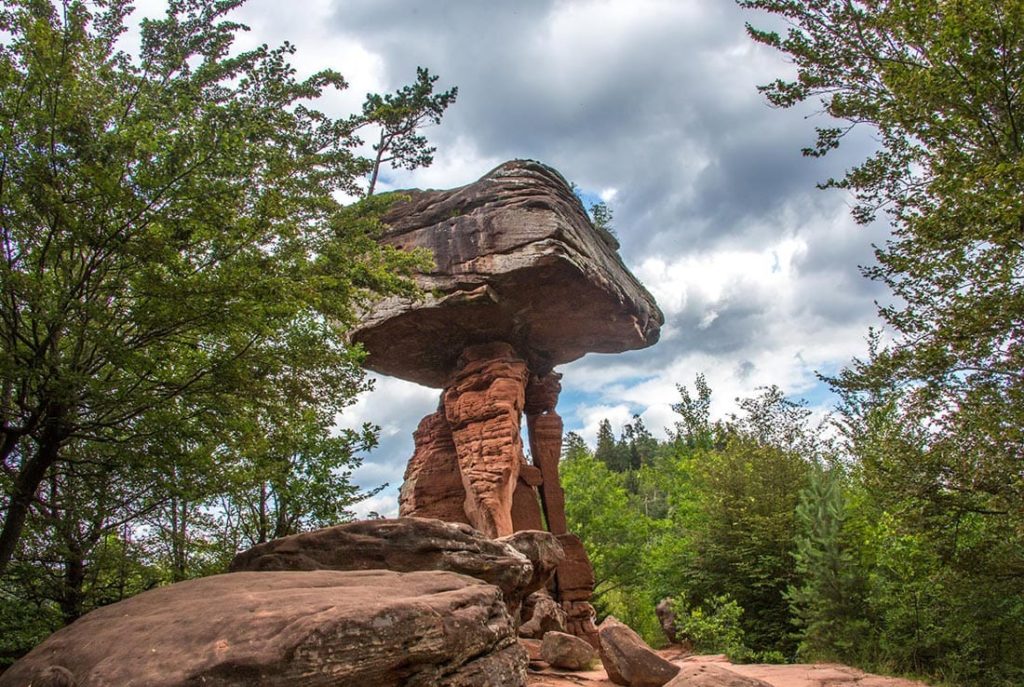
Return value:
<svg viewBox="0 0 1024 687">
<path fill-rule="evenodd" d="M 359 308 L 415 296 L 381 246 L 381 162 L 429 164 L 436 77 L 314 109 L 289 44 L 233 47 L 244 0 L 2 0 L 0 618 L 11 655 L 89 609 L 221 571 L 240 546 L 350 517 L 376 428 Z M 356 131 L 386 132 L 377 165 Z M 390 156 L 390 158 L 388 158 Z M 20 618 L 19 620 L 17 618 Z M 8 630 L 10 631 L 8 634 Z M 5 639 L 6 641 L 6 639 Z"/>
</svg>

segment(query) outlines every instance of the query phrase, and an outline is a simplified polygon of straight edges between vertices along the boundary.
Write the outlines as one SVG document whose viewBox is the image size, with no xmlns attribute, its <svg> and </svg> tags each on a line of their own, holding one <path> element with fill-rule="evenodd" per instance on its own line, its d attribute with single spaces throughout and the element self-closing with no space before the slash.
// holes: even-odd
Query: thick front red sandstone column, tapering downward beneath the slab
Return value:
<svg viewBox="0 0 1024 687">
<path fill-rule="evenodd" d="M 466 516 L 492 538 L 513 532 L 527 379 L 526 362 L 509 344 L 470 346 L 441 397 L 466 489 Z"/>
</svg>

